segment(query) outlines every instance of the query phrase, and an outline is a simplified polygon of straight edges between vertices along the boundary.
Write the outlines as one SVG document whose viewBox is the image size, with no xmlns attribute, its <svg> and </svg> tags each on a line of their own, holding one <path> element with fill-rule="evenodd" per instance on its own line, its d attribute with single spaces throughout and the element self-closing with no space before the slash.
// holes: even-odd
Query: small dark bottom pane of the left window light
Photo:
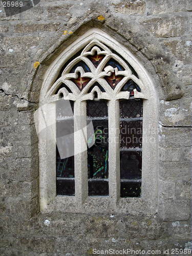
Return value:
<svg viewBox="0 0 192 256">
<path fill-rule="evenodd" d="M 57 180 L 57 195 L 75 196 L 75 181 L 74 180 Z"/>
</svg>

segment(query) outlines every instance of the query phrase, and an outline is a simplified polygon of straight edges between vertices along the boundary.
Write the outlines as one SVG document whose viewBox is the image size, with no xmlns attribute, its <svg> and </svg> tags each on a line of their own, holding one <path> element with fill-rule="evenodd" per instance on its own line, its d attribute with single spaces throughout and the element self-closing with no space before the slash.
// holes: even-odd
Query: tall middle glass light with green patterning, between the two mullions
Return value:
<svg viewBox="0 0 192 256">
<path fill-rule="evenodd" d="M 88 138 L 88 179 L 89 196 L 109 195 L 108 171 L 108 109 L 106 101 L 87 102 L 88 121 L 93 123 L 94 135 Z M 88 136 L 90 134 L 88 133 Z M 89 141 L 94 145 L 89 148 Z"/>
</svg>

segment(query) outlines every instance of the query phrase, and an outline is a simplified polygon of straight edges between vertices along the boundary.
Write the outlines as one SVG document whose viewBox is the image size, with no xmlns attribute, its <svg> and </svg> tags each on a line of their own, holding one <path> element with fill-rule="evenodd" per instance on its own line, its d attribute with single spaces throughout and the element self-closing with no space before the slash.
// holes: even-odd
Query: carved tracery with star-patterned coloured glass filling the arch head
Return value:
<svg viewBox="0 0 192 256">
<path fill-rule="evenodd" d="M 97 97 L 102 99 L 111 99 L 112 96 L 129 99 L 130 92 L 121 89 L 131 79 L 139 88 L 133 90 L 135 97 L 146 98 L 142 91 L 143 83 L 136 71 L 116 51 L 97 39 L 93 39 L 65 66 L 50 89 L 50 95 L 59 96 L 62 93 L 65 99 L 91 100 L 96 92 Z M 61 84 L 64 86 L 61 87 Z"/>
</svg>

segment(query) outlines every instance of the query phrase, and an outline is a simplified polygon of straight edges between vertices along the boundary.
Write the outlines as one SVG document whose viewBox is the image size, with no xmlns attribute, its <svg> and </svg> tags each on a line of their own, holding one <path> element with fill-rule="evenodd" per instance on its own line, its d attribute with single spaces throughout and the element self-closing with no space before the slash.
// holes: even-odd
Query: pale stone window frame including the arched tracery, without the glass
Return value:
<svg viewBox="0 0 192 256">
<path fill-rule="evenodd" d="M 90 60 L 90 56 L 104 56 L 97 67 Z M 90 58 L 88 58 L 90 57 Z M 117 61 L 122 70 L 113 68 L 109 65 L 110 59 Z M 83 65 L 73 67 L 80 61 L 88 66 L 88 70 L 83 69 Z M 119 83 L 110 86 L 106 77 L 112 73 L 122 77 Z M 86 86 L 78 88 L 74 80 L 86 77 L 89 81 Z M 79 195 L 74 198 L 56 197 L 55 189 L 55 141 L 50 138 L 39 140 L 39 189 L 40 189 L 40 208 L 41 210 L 54 210 L 55 207 L 63 208 L 63 211 L 92 212 L 94 205 L 95 212 L 107 212 L 111 208 L 117 212 L 133 212 L 135 207 L 139 207 L 141 212 L 153 212 L 157 208 L 158 194 L 158 98 L 150 75 L 147 73 L 142 63 L 122 46 L 114 38 L 100 29 L 91 29 L 83 36 L 80 36 L 67 49 L 65 49 L 50 65 L 40 90 L 39 105 L 48 104 L 46 110 L 48 117 L 54 120 L 54 102 L 62 94 L 66 100 L 76 101 L 79 111 L 86 111 L 84 101 L 93 99 L 95 92 L 98 98 L 110 100 L 114 108 L 117 106 L 118 99 L 129 99 L 130 93 L 121 89 L 127 81 L 135 82 L 140 90 L 134 89 L 134 97 L 143 99 L 143 171 L 142 171 L 142 197 L 137 199 L 120 199 L 118 195 L 111 196 L 109 199 L 90 199 L 84 193 L 85 188 L 79 184 Z M 103 91 L 101 90 L 103 88 Z M 110 103 L 111 104 L 111 103 Z M 111 104 L 112 105 L 112 104 Z M 76 107 L 76 109 L 78 109 Z M 78 112 L 78 111 L 77 111 Z M 52 114 L 51 114 L 52 113 Z M 80 112 L 79 112 L 80 113 Z M 51 115 L 51 116 L 50 116 Z M 118 123 L 119 116 L 114 114 L 114 122 Z M 41 120 L 39 120 L 41 123 Z M 53 122 L 54 123 L 54 122 Z M 111 122 L 113 126 L 113 122 Z M 115 127 L 115 126 L 114 126 Z M 55 129 L 54 124 L 52 125 Z M 53 133 L 54 134 L 54 133 Z M 118 136 L 114 132 L 114 137 Z M 80 146 L 80 145 L 79 145 Z M 47 153 L 46 153 L 47 152 Z M 48 154 L 49 152 L 49 154 Z M 114 154 L 116 152 L 114 151 Z M 83 161 L 86 155 L 81 155 L 79 168 L 84 168 Z M 114 166 L 115 169 L 117 166 Z M 80 172 L 80 171 L 79 171 Z M 77 173 L 79 173 L 77 172 Z M 80 180 L 86 176 L 78 176 Z M 117 182 L 115 179 L 113 182 Z M 84 193 L 84 194 L 83 194 Z M 112 199 L 113 198 L 113 199 Z M 149 200 L 150 199 L 150 200 Z M 136 205 L 135 205 L 136 202 Z M 145 202 L 145 204 L 143 204 Z M 129 203 L 129 204 L 127 204 Z M 71 205 L 67 209 L 67 205 Z M 101 206 L 99 208 L 99 206 Z M 126 206 L 126 207 L 125 207 Z M 109 207 L 109 209 L 108 209 Z"/>
</svg>

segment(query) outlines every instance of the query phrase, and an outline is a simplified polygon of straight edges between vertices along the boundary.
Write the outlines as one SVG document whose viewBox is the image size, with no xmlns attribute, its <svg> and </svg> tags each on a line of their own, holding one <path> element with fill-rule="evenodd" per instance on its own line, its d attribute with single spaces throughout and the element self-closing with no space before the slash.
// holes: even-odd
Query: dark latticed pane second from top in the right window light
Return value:
<svg viewBox="0 0 192 256">
<path fill-rule="evenodd" d="M 142 147 L 142 121 L 120 122 L 120 148 Z"/>
</svg>

